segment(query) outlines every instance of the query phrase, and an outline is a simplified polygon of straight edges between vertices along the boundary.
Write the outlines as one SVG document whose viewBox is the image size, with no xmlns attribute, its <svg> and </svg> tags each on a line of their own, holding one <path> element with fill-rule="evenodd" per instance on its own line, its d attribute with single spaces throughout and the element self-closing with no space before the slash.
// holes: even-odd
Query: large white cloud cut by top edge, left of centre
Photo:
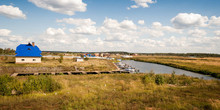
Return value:
<svg viewBox="0 0 220 110">
<path fill-rule="evenodd" d="M 85 12 L 87 4 L 82 0 L 28 0 L 37 7 L 44 8 L 57 13 L 74 15 L 75 12 Z"/>
</svg>

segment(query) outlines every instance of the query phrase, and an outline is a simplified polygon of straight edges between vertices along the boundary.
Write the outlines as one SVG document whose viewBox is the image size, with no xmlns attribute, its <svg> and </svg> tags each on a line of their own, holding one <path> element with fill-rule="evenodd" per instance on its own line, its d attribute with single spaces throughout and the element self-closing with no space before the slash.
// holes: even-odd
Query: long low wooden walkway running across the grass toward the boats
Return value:
<svg viewBox="0 0 220 110">
<path fill-rule="evenodd" d="M 67 71 L 67 72 L 39 72 L 39 73 L 13 73 L 11 76 L 30 76 L 30 75 L 84 75 L 84 74 L 120 74 L 130 73 L 128 71 Z"/>
</svg>

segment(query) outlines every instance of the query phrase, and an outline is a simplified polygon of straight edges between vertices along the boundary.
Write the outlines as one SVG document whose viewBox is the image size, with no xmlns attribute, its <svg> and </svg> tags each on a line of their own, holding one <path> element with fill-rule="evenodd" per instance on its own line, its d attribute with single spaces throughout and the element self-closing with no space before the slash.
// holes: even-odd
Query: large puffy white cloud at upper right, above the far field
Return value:
<svg viewBox="0 0 220 110">
<path fill-rule="evenodd" d="M 175 28 L 205 27 L 208 17 L 194 13 L 179 13 L 171 19 Z"/>
</svg>

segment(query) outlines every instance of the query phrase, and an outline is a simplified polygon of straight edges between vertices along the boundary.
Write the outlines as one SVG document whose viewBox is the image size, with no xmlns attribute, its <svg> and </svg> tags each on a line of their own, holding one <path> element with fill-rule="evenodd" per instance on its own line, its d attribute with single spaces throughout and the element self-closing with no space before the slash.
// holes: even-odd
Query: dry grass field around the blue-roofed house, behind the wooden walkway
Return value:
<svg viewBox="0 0 220 110">
<path fill-rule="evenodd" d="M 15 64 L 14 57 L 0 58 L 0 74 L 15 72 L 62 72 L 62 71 L 112 71 L 117 68 L 112 61 L 102 59 L 89 59 L 84 62 L 76 62 L 75 59 L 64 59 L 62 63 L 58 59 L 43 58 L 40 64 Z"/>
</svg>

